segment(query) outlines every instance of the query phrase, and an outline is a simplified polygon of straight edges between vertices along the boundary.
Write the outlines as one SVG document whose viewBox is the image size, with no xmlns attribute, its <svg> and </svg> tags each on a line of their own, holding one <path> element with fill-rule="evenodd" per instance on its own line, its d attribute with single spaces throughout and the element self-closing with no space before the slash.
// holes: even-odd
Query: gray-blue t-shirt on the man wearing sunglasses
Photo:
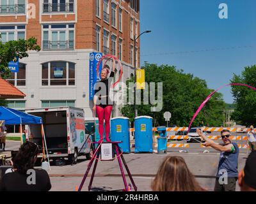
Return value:
<svg viewBox="0 0 256 204">
<path fill-rule="evenodd" d="M 223 176 L 220 170 L 227 170 L 228 177 L 238 177 L 238 156 L 239 156 L 239 147 L 237 143 L 232 143 L 235 147 L 235 152 L 221 152 L 220 161 L 218 166 L 218 172 L 216 177 Z"/>
</svg>

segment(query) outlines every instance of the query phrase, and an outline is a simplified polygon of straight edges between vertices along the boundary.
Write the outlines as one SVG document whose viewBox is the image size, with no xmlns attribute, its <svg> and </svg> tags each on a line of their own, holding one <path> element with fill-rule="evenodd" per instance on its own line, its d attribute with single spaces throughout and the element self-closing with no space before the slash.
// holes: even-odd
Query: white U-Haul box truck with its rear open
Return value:
<svg viewBox="0 0 256 204">
<path fill-rule="evenodd" d="M 50 159 L 68 157 L 76 163 L 77 157 L 93 155 L 92 138 L 84 126 L 84 110 L 81 108 L 60 107 L 29 109 L 26 113 L 42 117 L 45 140 Z M 26 139 L 39 145 L 42 158 L 42 128 L 39 125 L 26 126 Z M 89 138 L 88 138 L 89 136 Z M 86 138 L 88 138 L 86 140 Z M 81 149 L 83 147 L 83 149 Z M 46 152 L 45 152 L 46 154 Z"/>
</svg>

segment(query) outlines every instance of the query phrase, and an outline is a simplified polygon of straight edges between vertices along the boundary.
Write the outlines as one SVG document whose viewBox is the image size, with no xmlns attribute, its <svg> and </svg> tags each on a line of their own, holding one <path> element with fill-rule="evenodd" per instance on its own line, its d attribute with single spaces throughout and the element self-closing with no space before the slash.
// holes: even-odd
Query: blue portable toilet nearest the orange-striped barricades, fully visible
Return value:
<svg viewBox="0 0 256 204">
<path fill-rule="evenodd" d="M 153 118 L 139 116 L 135 118 L 135 153 L 153 152 Z"/>
</svg>

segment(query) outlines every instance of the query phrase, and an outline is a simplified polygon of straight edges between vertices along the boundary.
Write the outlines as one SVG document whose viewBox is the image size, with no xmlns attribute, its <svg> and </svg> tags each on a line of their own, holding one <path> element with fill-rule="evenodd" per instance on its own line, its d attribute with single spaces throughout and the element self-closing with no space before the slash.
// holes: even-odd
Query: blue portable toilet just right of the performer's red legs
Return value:
<svg viewBox="0 0 256 204">
<path fill-rule="evenodd" d="M 122 142 L 118 145 L 123 152 L 131 153 L 129 118 L 115 117 L 111 119 L 111 140 L 113 142 Z"/>
</svg>

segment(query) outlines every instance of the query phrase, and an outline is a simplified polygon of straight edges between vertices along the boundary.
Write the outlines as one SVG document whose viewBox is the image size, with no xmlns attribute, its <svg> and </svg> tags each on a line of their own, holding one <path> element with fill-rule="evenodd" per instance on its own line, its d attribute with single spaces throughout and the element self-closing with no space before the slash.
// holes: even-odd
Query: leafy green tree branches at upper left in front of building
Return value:
<svg viewBox="0 0 256 204">
<path fill-rule="evenodd" d="M 12 40 L 6 43 L 0 41 L 0 73 L 1 77 L 10 77 L 10 69 L 8 63 L 13 61 L 15 57 L 22 59 L 28 57 L 29 50 L 40 51 L 40 46 L 36 44 L 36 38 L 29 38 L 28 40 Z"/>
</svg>

